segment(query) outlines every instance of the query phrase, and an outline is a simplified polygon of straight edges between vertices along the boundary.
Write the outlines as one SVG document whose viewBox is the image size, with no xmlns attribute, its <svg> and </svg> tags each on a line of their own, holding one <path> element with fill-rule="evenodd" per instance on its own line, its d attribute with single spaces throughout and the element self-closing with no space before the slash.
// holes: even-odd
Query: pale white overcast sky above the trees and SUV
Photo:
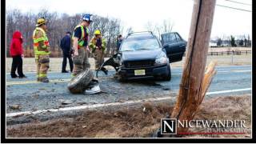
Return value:
<svg viewBox="0 0 256 144">
<path fill-rule="evenodd" d="M 218 5 L 230 6 L 244 10 L 252 10 L 252 6 L 235 2 L 252 4 L 252 0 L 217 0 Z M 173 31 L 187 39 L 193 0 L 6 0 L 6 10 L 18 9 L 26 13 L 46 8 L 51 12 L 69 15 L 89 12 L 110 18 L 119 18 L 124 32 L 132 27 L 134 31 L 146 30 L 146 23 L 161 23 L 164 19 L 174 24 Z M 215 6 L 214 23 L 211 38 L 252 34 L 252 13 Z"/>
</svg>

